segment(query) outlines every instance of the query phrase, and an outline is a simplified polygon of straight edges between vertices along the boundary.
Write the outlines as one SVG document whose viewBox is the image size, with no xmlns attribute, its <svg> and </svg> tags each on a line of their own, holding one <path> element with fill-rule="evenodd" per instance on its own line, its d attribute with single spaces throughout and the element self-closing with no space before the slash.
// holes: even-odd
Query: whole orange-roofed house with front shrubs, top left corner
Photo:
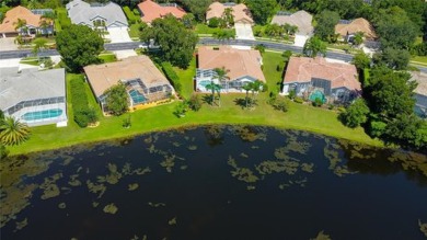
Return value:
<svg viewBox="0 0 427 240">
<path fill-rule="evenodd" d="M 19 20 L 25 21 L 25 26 L 16 28 Z M 0 37 L 35 36 L 41 34 L 53 34 L 54 25 L 42 26 L 42 14 L 35 14 L 28 9 L 18 5 L 5 13 L 3 22 L 0 24 Z M 47 22 L 48 23 L 48 22 Z"/>
</svg>

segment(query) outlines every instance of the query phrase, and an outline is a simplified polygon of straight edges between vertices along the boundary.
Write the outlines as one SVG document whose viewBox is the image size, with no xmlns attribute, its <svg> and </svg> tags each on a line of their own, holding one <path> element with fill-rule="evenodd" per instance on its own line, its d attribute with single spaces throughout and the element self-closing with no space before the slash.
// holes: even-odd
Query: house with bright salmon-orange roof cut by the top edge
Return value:
<svg viewBox="0 0 427 240">
<path fill-rule="evenodd" d="M 168 14 L 174 15 L 176 19 L 182 19 L 186 12 L 176 3 L 157 3 L 152 0 L 145 0 L 138 4 L 141 13 L 142 22 L 151 24 L 155 19 L 161 19 Z"/>
</svg>

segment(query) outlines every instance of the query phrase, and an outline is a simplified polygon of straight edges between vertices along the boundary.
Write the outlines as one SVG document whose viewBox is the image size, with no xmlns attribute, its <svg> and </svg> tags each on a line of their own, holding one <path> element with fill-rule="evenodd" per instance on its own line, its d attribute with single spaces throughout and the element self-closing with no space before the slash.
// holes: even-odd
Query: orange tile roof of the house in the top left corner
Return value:
<svg viewBox="0 0 427 240">
<path fill-rule="evenodd" d="M 28 9 L 18 5 L 5 13 L 0 24 L 0 33 L 16 33 L 15 23 L 18 19 L 25 20 L 27 25 L 39 26 L 42 15 L 32 13 Z"/>
</svg>

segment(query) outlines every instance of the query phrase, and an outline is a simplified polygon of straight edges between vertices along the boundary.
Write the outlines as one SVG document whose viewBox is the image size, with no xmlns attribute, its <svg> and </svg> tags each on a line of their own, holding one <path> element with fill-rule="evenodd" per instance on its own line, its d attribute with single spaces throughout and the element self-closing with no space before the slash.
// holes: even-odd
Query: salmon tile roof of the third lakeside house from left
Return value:
<svg viewBox="0 0 427 240">
<path fill-rule="evenodd" d="M 258 50 L 235 49 L 221 46 L 219 49 L 203 46 L 198 48 L 198 68 L 214 69 L 224 67 L 230 80 L 250 76 L 265 82 L 261 69 L 262 57 Z"/>
</svg>

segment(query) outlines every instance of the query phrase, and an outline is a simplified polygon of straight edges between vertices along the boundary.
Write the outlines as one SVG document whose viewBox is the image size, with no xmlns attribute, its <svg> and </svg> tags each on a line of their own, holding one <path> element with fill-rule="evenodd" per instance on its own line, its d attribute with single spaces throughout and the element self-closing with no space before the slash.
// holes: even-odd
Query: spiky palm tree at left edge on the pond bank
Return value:
<svg viewBox="0 0 427 240">
<path fill-rule="evenodd" d="M 0 123 L 0 142 L 3 145 L 20 145 L 30 137 L 30 128 L 26 124 L 7 116 Z"/>
</svg>

